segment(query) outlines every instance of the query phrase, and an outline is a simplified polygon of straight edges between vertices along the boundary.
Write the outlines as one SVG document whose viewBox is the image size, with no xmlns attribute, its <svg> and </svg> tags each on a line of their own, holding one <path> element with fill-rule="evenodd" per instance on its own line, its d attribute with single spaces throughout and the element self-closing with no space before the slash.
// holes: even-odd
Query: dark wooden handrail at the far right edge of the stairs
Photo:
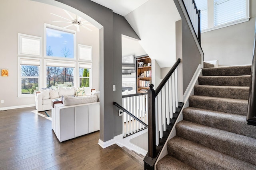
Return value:
<svg viewBox="0 0 256 170">
<path fill-rule="evenodd" d="M 251 82 L 249 90 L 249 102 L 247 110 L 247 124 L 256 126 L 256 23 L 254 32 L 254 46 L 251 68 Z"/>
</svg>

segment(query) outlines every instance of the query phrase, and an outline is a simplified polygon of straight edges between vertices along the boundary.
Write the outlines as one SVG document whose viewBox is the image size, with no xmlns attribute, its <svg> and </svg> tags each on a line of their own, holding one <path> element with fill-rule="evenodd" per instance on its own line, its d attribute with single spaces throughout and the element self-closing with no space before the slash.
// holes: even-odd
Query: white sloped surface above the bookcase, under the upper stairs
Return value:
<svg viewBox="0 0 256 170">
<path fill-rule="evenodd" d="M 149 0 L 125 18 L 151 59 L 157 59 L 161 68 L 175 63 L 175 21 L 181 18 L 174 1 Z"/>
</svg>

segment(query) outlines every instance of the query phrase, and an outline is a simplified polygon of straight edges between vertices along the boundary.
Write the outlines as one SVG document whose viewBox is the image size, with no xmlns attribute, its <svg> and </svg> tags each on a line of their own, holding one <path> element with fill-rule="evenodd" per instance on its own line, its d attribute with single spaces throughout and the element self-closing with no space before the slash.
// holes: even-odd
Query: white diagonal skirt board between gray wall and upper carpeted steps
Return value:
<svg viewBox="0 0 256 170">
<path fill-rule="evenodd" d="M 186 102 L 188 101 L 188 97 L 190 96 L 192 90 L 194 89 L 196 81 L 198 80 L 198 76 L 200 75 L 200 73 L 202 71 L 201 68 L 202 68 L 202 65 L 199 64 L 198 67 L 196 68 L 196 71 L 195 71 L 190 83 L 188 84 L 186 91 L 184 92 L 184 95 L 183 95 L 184 104 L 186 104 Z"/>
</svg>

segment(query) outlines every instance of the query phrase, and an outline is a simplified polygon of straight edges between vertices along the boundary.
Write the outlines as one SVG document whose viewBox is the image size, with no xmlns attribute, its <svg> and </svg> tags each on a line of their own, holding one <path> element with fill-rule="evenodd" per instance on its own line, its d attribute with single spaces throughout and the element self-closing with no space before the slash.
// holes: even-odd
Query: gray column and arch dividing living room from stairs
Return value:
<svg viewBox="0 0 256 170">
<path fill-rule="evenodd" d="M 114 101 L 122 104 L 121 35 L 139 37 L 124 17 L 104 6 L 90 0 L 57 1 L 87 14 L 103 26 L 100 29 L 100 140 L 109 141 L 122 133 L 122 118 L 113 106 Z M 116 85 L 114 92 L 113 85 Z"/>
</svg>

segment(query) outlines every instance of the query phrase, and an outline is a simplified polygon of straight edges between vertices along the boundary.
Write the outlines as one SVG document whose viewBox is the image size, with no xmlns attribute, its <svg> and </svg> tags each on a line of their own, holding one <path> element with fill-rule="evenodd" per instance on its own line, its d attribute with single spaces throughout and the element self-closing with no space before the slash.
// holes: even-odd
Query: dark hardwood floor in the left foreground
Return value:
<svg viewBox="0 0 256 170">
<path fill-rule="evenodd" d="M 117 145 L 102 149 L 99 131 L 60 143 L 35 107 L 0 111 L 0 170 L 143 170 Z"/>
</svg>

